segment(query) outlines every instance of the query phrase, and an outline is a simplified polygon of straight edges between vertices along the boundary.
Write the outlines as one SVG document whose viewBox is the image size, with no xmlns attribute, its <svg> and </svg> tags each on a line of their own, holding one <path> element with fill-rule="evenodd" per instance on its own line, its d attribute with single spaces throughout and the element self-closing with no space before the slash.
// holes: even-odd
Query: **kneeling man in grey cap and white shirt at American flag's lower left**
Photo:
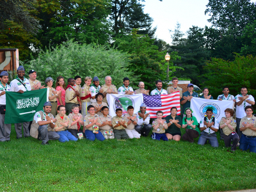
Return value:
<svg viewBox="0 0 256 192">
<path fill-rule="evenodd" d="M 152 125 L 149 124 L 150 115 L 147 112 L 147 107 L 143 103 L 140 106 L 140 111 L 136 113 L 137 115 L 137 125 L 135 125 L 135 130 L 141 134 L 141 136 L 147 137 L 152 129 Z"/>
</svg>

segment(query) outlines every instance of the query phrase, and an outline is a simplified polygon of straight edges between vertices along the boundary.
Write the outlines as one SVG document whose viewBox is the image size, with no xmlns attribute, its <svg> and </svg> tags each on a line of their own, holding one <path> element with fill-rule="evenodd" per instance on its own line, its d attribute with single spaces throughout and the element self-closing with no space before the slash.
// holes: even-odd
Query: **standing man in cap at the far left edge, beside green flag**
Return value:
<svg viewBox="0 0 256 192">
<path fill-rule="evenodd" d="M 8 72 L 3 71 L 0 74 L 0 141 L 10 141 L 11 125 L 4 124 L 5 106 L 6 106 L 6 92 L 11 91 L 11 87 L 8 83 Z"/>
</svg>

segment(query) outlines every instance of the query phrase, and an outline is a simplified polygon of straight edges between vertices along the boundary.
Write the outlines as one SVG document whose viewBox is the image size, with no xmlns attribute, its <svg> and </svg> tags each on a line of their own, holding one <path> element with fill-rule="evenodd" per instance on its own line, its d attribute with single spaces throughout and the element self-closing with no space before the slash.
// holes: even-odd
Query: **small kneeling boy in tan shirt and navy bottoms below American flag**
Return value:
<svg viewBox="0 0 256 192">
<path fill-rule="evenodd" d="M 156 112 L 157 119 L 152 123 L 153 130 L 151 138 L 153 140 L 160 141 L 162 139 L 163 141 L 168 141 L 165 134 L 165 129 L 168 129 L 168 125 L 166 124 L 166 120 L 162 119 L 163 114 L 163 111 Z"/>
</svg>

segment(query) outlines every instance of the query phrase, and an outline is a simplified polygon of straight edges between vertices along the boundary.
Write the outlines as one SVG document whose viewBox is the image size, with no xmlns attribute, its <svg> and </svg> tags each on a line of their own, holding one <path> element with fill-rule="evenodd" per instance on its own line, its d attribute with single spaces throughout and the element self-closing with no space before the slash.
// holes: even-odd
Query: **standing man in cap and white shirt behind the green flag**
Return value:
<svg viewBox="0 0 256 192">
<path fill-rule="evenodd" d="M 29 80 L 26 77 L 24 77 L 24 75 L 25 75 L 25 68 L 22 65 L 20 65 L 17 68 L 17 77 L 13 79 L 10 83 L 11 92 L 24 93 L 24 92 L 31 91 Z M 29 122 L 18 123 L 18 124 L 14 124 L 17 139 L 22 138 L 22 125 L 23 125 L 24 137 L 26 138 L 30 136 Z"/>
</svg>

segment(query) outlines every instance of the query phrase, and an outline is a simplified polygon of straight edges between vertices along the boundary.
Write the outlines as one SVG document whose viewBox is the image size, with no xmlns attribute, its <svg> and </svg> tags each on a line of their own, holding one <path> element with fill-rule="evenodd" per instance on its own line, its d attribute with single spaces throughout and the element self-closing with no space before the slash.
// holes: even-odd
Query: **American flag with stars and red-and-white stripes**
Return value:
<svg viewBox="0 0 256 192">
<path fill-rule="evenodd" d="M 157 118 L 156 112 L 163 111 L 164 117 L 170 115 L 172 107 L 177 108 L 177 115 L 180 115 L 180 92 L 173 92 L 170 95 L 145 95 L 143 100 L 147 106 L 150 118 Z"/>
</svg>

